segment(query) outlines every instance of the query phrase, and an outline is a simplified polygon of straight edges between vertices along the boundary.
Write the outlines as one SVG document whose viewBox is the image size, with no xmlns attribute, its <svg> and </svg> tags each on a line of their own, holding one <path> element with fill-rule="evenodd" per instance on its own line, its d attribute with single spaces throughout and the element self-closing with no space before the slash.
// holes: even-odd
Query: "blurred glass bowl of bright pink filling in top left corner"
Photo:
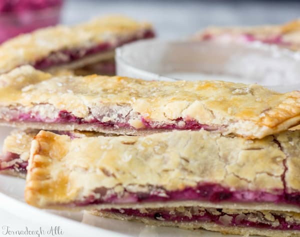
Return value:
<svg viewBox="0 0 300 237">
<path fill-rule="evenodd" d="M 0 43 L 20 33 L 57 24 L 60 19 L 62 0 L 56 0 L 55 5 L 44 4 L 44 6 L 37 9 L 25 8 L 30 7 L 27 4 L 6 9 L 6 11 L 2 9 L 3 11 L 0 11 Z"/>
</svg>

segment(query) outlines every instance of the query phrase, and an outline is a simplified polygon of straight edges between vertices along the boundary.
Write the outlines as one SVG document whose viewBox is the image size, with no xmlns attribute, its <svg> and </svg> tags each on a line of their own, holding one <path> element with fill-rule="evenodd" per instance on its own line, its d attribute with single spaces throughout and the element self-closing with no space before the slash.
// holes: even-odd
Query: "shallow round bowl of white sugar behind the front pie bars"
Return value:
<svg viewBox="0 0 300 237">
<path fill-rule="evenodd" d="M 300 89 L 299 52 L 258 42 L 141 40 L 117 48 L 116 71 L 148 80 L 218 79 L 282 92 Z"/>
</svg>

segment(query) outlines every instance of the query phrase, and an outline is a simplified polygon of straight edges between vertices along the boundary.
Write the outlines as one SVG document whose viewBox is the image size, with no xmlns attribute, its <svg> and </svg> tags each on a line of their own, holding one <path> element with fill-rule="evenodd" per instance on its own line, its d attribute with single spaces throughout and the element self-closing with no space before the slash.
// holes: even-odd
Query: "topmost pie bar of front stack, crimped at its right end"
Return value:
<svg viewBox="0 0 300 237">
<path fill-rule="evenodd" d="M 31 66 L 0 75 L 0 123 L 12 126 L 134 135 L 203 127 L 261 138 L 299 121 L 300 91 L 257 84 L 52 76 Z"/>
</svg>

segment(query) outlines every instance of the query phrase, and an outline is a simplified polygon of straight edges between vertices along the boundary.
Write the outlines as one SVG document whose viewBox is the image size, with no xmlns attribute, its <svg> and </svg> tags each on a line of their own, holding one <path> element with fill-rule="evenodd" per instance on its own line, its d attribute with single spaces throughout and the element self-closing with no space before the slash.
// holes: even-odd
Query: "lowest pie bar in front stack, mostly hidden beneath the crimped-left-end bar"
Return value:
<svg viewBox="0 0 300 237">
<path fill-rule="evenodd" d="M 92 214 L 120 220 L 141 221 L 149 225 L 185 229 L 204 228 L 224 234 L 270 237 L 299 236 L 300 215 L 291 211 L 204 208 L 179 206 L 168 208 L 120 208 L 93 210 Z M 201 236 L 201 235 L 200 235 Z"/>
</svg>

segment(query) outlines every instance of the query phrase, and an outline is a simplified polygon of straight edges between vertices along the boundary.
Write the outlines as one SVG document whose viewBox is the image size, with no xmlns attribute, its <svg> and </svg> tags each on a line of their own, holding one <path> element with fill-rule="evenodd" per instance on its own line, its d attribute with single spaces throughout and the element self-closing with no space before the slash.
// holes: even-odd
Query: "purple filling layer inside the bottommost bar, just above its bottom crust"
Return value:
<svg viewBox="0 0 300 237">
<path fill-rule="evenodd" d="M 207 210 L 201 211 L 201 214 L 193 214 L 191 216 L 183 215 L 182 212 L 179 214 L 170 214 L 169 211 L 159 210 L 159 209 L 149 209 L 147 212 L 140 212 L 139 209 L 105 209 L 106 212 L 118 213 L 122 215 L 128 216 L 137 216 L 137 217 L 147 217 L 151 219 L 161 220 L 161 221 L 177 221 L 177 222 L 188 222 L 188 221 L 205 221 L 205 222 L 213 222 L 220 225 L 227 226 L 242 226 L 242 227 L 254 227 L 254 228 L 271 228 L 271 229 L 280 229 L 280 230 L 300 230 L 300 223 L 287 222 L 283 216 L 278 214 L 272 214 L 274 216 L 274 221 L 278 221 L 276 225 L 272 225 L 271 222 L 267 220 L 259 221 L 251 221 L 245 218 L 245 215 L 240 214 L 228 214 L 222 212 L 222 209 L 217 209 L 218 214 L 213 214 Z M 174 211 L 175 212 L 175 211 Z M 255 216 L 257 212 L 251 213 L 252 216 Z M 222 217 L 226 216 L 229 220 L 224 223 L 222 221 Z M 241 218 L 243 216 L 243 218 Z M 229 217 L 229 218 L 228 218 Z"/>
</svg>

